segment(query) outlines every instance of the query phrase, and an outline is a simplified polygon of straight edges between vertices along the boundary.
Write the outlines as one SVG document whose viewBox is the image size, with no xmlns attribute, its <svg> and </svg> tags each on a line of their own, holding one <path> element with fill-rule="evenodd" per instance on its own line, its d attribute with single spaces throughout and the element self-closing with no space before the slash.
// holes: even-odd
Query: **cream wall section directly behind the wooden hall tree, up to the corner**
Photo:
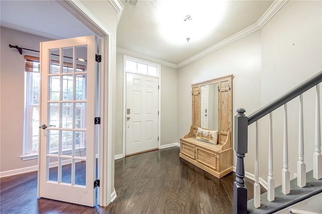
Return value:
<svg viewBox="0 0 322 214">
<path fill-rule="evenodd" d="M 178 69 L 178 136 L 190 130 L 191 84 L 233 74 L 232 114 L 237 108 L 246 114 L 260 108 L 261 31 L 256 31 Z M 233 136 L 233 135 L 232 135 Z M 233 156 L 234 157 L 234 156 Z M 235 157 L 233 158 L 235 162 Z"/>
</svg>

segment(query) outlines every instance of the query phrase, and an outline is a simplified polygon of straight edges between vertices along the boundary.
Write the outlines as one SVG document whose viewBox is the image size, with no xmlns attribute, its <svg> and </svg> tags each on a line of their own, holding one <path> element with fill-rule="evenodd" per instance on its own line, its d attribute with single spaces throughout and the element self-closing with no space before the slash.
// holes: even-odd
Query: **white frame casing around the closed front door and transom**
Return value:
<svg viewBox="0 0 322 214">
<path fill-rule="evenodd" d="M 143 62 L 143 63 L 147 63 L 147 64 L 151 64 L 151 65 L 155 65 L 155 66 L 158 66 L 158 76 L 154 76 L 156 78 L 158 78 L 158 85 L 159 85 L 159 88 L 158 88 L 158 91 L 157 91 L 157 96 L 158 96 L 158 118 L 157 118 L 157 121 L 158 121 L 158 130 L 157 130 L 157 135 L 158 135 L 158 141 L 157 141 L 157 148 L 160 149 L 160 144 L 161 144 L 161 136 L 160 136 L 160 133 L 161 133 L 161 111 L 160 111 L 160 106 L 161 106 L 161 65 L 160 64 L 157 64 L 157 63 L 154 63 L 154 62 L 149 62 L 149 61 L 146 61 L 146 60 L 142 60 L 142 59 L 138 59 L 138 58 L 135 58 L 135 57 L 131 57 L 131 56 L 128 56 L 128 55 L 123 55 L 123 117 L 122 117 L 122 126 L 123 126 L 123 137 L 122 137 L 122 157 L 125 157 L 125 146 L 126 146 L 126 73 L 127 71 L 125 71 L 125 59 L 133 59 L 135 61 L 138 61 L 138 62 Z M 131 72 L 129 72 L 131 73 Z M 135 74 L 138 74 L 138 75 L 142 75 L 140 73 L 135 73 Z"/>
</svg>

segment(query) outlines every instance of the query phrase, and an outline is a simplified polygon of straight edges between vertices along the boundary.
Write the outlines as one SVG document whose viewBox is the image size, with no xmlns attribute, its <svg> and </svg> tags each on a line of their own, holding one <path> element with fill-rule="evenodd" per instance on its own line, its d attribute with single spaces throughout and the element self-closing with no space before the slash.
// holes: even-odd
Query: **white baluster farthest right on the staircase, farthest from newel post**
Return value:
<svg viewBox="0 0 322 214">
<path fill-rule="evenodd" d="M 315 99 L 315 152 L 313 154 L 313 178 L 322 178 L 321 125 L 320 125 L 320 90 L 316 85 Z"/>
</svg>

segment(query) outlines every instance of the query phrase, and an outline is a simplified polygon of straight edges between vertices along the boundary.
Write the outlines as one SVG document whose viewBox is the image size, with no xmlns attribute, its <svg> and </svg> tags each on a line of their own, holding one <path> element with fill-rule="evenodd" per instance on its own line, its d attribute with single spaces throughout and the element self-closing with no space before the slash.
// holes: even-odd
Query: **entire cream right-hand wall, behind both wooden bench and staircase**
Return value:
<svg viewBox="0 0 322 214">
<path fill-rule="evenodd" d="M 178 136 L 191 125 L 191 84 L 232 73 L 232 110 L 246 109 L 250 115 L 261 106 L 322 70 L 321 2 L 288 1 L 261 29 L 178 69 Z M 293 45 L 294 44 L 294 45 Z M 307 170 L 312 168 L 314 94 L 305 93 L 304 141 Z M 294 102 L 294 104 L 293 104 Z M 297 161 L 298 102 L 289 110 L 291 177 Z M 293 107 L 294 106 L 294 107 Z M 179 111 L 180 110 L 180 111 Z M 283 109 L 274 112 L 274 177 L 281 182 Z M 268 121 L 260 122 L 260 176 L 268 175 Z M 281 121 L 281 122 L 280 122 Z M 249 127 L 246 171 L 254 173 L 255 124 Z M 294 130 L 295 129 L 295 130 Z M 233 130 L 234 131 L 234 130 Z M 232 135 L 233 136 L 233 135 Z M 235 166 L 235 155 L 233 163 Z"/>
</svg>

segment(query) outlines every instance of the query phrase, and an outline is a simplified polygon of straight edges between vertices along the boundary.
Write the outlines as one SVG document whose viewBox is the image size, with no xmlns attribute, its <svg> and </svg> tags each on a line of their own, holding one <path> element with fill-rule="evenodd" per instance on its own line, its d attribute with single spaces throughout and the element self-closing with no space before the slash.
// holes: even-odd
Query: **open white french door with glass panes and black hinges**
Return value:
<svg viewBox="0 0 322 214">
<path fill-rule="evenodd" d="M 38 196 L 95 205 L 97 37 L 40 43 Z"/>
</svg>

